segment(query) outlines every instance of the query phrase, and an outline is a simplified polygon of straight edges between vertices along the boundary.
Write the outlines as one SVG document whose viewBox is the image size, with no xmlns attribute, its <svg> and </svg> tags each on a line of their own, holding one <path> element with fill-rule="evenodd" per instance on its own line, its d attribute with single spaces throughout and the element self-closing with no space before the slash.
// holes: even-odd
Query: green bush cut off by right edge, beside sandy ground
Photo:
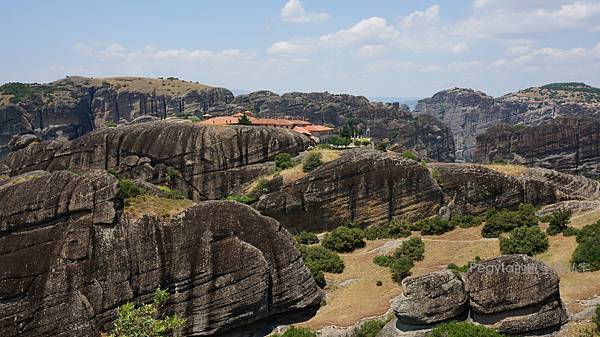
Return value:
<svg viewBox="0 0 600 337">
<path fill-rule="evenodd" d="M 600 270 L 600 221 L 579 230 L 577 243 L 571 263 L 579 271 Z"/>
</svg>

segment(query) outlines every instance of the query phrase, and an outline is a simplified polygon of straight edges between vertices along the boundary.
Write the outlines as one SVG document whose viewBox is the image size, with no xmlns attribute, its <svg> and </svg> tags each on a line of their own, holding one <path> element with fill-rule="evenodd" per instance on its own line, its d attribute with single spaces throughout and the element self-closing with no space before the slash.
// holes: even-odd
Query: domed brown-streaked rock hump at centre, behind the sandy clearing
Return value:
<svg viewBox="0 0 600 337">
<path fill-rule="evenodd" d="M 357 149 L 263 196 L 256 208 L 292 231 L 326 231 L 347 221 L 375 225 L 435 215 L 441 200 L 440 188 L 419 163 Z"/>
</svg>

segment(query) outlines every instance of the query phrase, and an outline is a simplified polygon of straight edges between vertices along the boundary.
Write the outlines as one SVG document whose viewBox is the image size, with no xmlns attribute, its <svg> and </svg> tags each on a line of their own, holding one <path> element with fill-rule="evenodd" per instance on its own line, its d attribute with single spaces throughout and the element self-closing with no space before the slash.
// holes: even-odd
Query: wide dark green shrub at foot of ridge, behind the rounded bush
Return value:
<svg viewBox="0 0 600 337">
<path fill-rule="evenodd" d="M 535 208 L 529 204 L 519 205 L 519 209 L 516 211 L 492 209 L 487 212 L 481 234 L 485 238 L 498 237 L 500 234 L 510 232 L 518 227 L 536 226 L 538 220 L 535 216 Z"/>
</svg>

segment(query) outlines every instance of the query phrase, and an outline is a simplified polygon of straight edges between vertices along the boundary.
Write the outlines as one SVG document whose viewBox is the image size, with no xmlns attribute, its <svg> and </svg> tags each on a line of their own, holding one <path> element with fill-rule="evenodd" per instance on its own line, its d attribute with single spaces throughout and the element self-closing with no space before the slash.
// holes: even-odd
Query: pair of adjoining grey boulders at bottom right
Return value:
<svg viewBox="0 0 600 337">
<path fill-rule="evenodd" d="M 464 278 L 447 270 L 407 278 L 403 288 L 394 301 L 397 319 L 380 337 L 424 336 L 433 323 L 467 318 L 501 333 L 531 335 L 568 320 L 558 274 L 525 255 L 482 261 Z M 466 310 L 470 314 L 461 315 Z"/>
</svg>

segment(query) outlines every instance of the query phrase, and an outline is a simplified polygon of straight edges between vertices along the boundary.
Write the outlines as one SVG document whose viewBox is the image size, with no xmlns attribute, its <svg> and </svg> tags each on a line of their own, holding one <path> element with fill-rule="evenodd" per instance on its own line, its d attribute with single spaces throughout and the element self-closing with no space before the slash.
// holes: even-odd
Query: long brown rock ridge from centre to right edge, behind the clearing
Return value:
<svg viewBox="0 0 600 337">
<path fill-rule="evenodd" d="M 600 182 L 553 170 L 523 168 L 513 176 L 479 164 L 425 167 L 394 152 L 355 149 L 295 182 L 281 186 L 278 180 L 255 207 L 291 231 L 320 232 L 348 221 L 370 226 L 392 218 L 598 199 Z"/>
</svg>

